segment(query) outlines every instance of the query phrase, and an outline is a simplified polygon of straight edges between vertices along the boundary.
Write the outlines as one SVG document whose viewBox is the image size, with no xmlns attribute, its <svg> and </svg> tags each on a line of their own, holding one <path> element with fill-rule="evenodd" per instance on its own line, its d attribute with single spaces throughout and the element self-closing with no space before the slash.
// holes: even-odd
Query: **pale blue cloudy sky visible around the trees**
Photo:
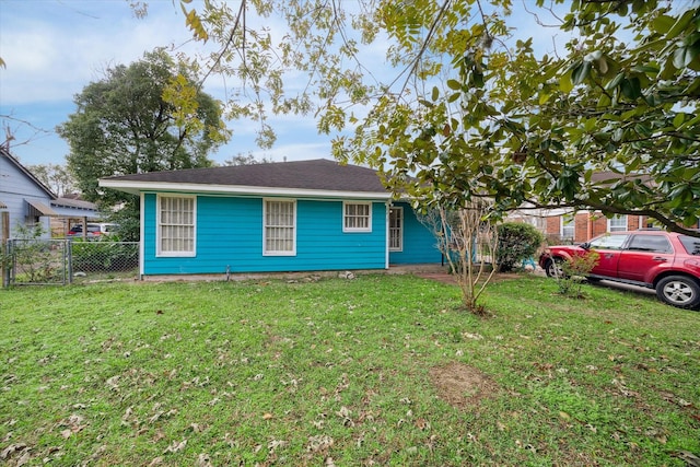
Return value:
<svg viewBox="0 0 700 467">
<path fill-rule="evenodd" d="M 520 33 L 529 28 L 541 47 L 553 48 L 551 33 L 514 3 Z M 23 165 L 65 164 L 69 148 L 54 130 L 75 110 L 73 96 L 102 79 L 106 68 L 129 65 L 160 46 L 201 51 L 203 46 L 190 40 L 179 1 L 148 4 L 148 15 L 137 19 L 125 0 L 0 0 L 0 57 L 5 62 L 0 68 L 0 116 L 12 117 L 0 120 L 0 142 L 9 129 L 15 137 L 11 152 Z M 215 77 L 205 85 L 217 98 L 224 97 L 224 89 Z M 253 122 L 230 121 L 231 141 L 210 157 L 217 163 L 248 153 L 273 161 L 331 159 L 332 135 L 318 135 L 313 117 L 273 117 L 270 124 L 278 136 L 272 149 L 256 145 Z"/>
</svg>

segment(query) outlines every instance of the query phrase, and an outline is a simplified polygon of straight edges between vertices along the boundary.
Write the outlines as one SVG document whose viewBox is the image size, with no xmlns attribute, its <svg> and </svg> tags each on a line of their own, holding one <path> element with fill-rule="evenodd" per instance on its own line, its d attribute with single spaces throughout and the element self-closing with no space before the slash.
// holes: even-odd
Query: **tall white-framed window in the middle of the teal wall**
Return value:
<svg viewBox="0 0 700 467">
<path fill-rule="evenodd" d="M 296 201 L 266 199 L 262 213 L 262 254 L 296 254 Z"/>
</svg>

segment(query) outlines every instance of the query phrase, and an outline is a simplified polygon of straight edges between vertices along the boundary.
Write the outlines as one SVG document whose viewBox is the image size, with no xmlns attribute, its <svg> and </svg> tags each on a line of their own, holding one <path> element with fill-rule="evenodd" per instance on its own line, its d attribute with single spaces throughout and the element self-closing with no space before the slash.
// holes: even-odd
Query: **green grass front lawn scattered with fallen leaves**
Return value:
<svg viewBox="0 0 700 467">
<path fill-rule="evenodd" d="M 686 466 L 700 313 L 551 280 L 0 290 L 0 464 Z"/>
</svg>

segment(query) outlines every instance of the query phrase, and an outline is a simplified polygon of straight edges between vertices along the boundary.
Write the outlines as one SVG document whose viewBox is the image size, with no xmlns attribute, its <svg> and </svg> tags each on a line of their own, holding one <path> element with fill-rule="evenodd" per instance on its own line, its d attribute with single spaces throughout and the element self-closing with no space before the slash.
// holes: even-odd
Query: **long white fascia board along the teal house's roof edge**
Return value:
<svg viewBox="0 0 700 467">
<path fill-rule="evenodd" d="M 175 184 L 170 182 L 145 182 L 101 179 L 100 186 L 138 195 L 141 191 L 201 192 L 254 196 L 287 196 L 314 198 L 389 199 L 389 192 L 335 191 L 306 188 L 257 187 L 247 185 Z"/>
</svg>

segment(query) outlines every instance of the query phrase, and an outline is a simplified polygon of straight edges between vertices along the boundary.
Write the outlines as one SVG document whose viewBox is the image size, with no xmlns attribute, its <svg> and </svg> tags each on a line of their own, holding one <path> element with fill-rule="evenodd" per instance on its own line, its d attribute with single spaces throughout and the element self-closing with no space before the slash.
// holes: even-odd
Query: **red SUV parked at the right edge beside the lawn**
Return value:
<svg viewBox="0 0 700 467">
<path fill-rule="evenodd" d="M 560 262 L 596 252 L 587 279 L 642 285 L 663 302 L 700 308 L 700 237 L 664 231 L 607 233 L 581 245 L 550 246 L 539 257 L 547 276 L 561 275 Z"/>
</svg>

